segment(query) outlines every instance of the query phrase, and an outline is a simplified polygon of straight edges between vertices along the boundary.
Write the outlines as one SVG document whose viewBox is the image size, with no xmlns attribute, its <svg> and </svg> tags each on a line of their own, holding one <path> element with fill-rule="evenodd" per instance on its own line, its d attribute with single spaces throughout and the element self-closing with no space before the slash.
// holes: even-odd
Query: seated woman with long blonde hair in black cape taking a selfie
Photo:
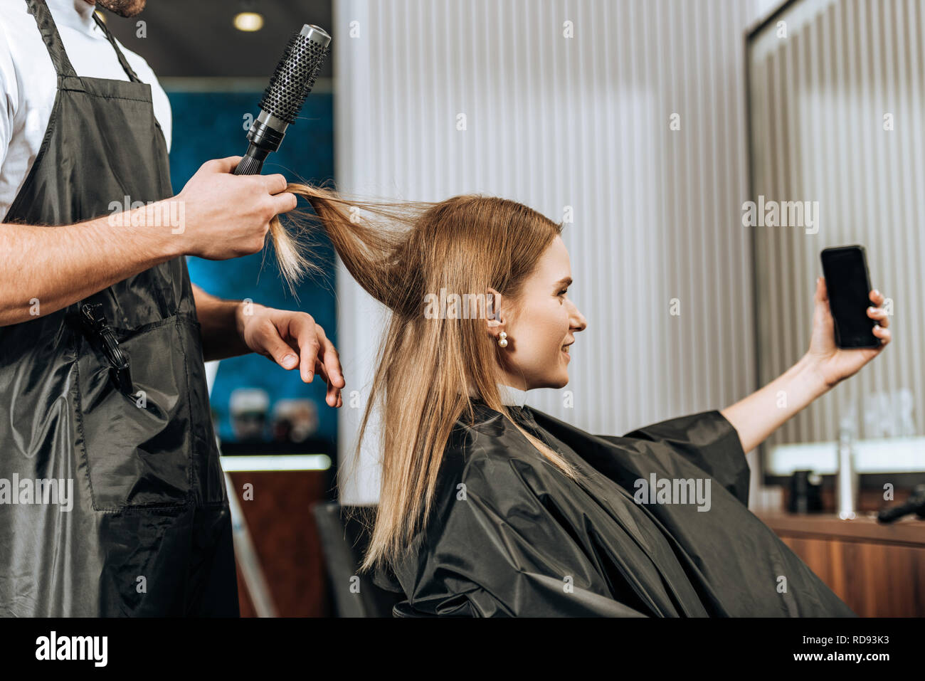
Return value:
<svg viewBox="0 0 925 681">
<path fill-rule="evenodd" d="M 835 346 L 820 278 L 808 352 L 781 377 L 722 411 L 603 438 L 525 403 L 528 390 L 566 385 L 586 328 L 561 224 L 480 195 L 389 204 L 288 191 L 391 311 L 361 427 L 362 439 L 378 407 L 381 493 L 362 568 L 401 589 L 406 609 L 854 615 L 748 511 L 745 452 L 882 351 L 879 292 L 868 315 L 880 348 Z M 297 276 L 300 246 L 279 224 L 273 235 Z M 461 314 L 479 294 L 487 314 Z"/>
</svg>

